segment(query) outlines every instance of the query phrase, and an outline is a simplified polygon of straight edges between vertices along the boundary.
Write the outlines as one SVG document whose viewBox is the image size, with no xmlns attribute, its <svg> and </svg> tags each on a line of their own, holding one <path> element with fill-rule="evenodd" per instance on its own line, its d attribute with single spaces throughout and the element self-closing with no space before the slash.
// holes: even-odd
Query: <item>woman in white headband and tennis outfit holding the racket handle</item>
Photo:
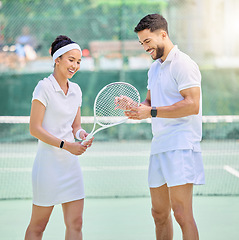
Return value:
<svg viewBox="0 0 239 240">
<path fill-rule="evenodd" d="M 32 98 L 30 133 L 38 138 L 33 165 L 33 208 L 25 240 L 42 239 L 54 205 L 62 204 L 67 240 L 82 239 L 84 186 L 77 155 L 93 138 L 81 128 L 80 87 L 68 78 L 80 68 L 80 46 L 66 36 L 51 45 L 54 71 L 37 84 Z"/>
</svg>

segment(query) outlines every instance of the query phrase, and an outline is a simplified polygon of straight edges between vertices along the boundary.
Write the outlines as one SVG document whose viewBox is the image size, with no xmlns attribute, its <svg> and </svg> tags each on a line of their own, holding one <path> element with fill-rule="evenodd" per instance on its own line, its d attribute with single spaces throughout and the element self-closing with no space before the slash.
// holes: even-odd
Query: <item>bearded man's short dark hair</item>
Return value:
<svg viewBox="0 0 239 240">
<path fill-rule="evenodd" d="M 168 23 L 166 19 L 160 14 L 149 14 L 142 18 L 135 27 L 134 32 L 140 32 L 144 29 L 149 29 L 151 32 L 156 30 L 164 30 L 168 34 Z"/>
</svg>

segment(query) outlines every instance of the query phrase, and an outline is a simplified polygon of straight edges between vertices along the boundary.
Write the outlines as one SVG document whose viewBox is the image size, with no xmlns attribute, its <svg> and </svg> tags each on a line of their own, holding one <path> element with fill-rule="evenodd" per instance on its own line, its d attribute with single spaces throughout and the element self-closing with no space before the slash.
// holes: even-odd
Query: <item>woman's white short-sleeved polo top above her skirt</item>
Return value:
<svg viewBox="0 0 239 240">
<path fill-rule="evenodd" d="M 72 123 L 82 103 L 82 92 L 78 84 L 69 80 L 68 84 L 65 95 L 51 74 L 38 82 L 32 100 L 37 99 L 46 107 L 43 128 L 55 137 L 74 142 Z"/>
</svg>

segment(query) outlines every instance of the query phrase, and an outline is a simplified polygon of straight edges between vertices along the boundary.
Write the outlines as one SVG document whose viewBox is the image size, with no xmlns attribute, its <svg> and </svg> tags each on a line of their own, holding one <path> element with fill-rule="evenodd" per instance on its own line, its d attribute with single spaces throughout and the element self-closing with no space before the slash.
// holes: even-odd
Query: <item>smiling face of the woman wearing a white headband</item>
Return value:
<svg viewBox="0 0 239 240">
<path fill-rule="evenodd" d="M 70 50 L 56 59 L 56 67 L 65 78 L 72 78 L 80 69 L 81 52 L 78 49 Z"/>
</svg>

